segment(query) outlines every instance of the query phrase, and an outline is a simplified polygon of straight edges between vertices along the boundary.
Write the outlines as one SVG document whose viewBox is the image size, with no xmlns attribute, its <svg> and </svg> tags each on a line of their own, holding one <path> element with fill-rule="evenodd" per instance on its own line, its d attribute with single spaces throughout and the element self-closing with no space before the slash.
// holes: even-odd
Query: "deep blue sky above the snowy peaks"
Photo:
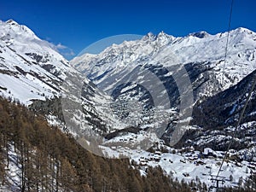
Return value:
<svg viewBox="0 0 256 192">
<path fill-rule="evenodd" d="M 174 36 L 228 30 L 231 0 L 0 0 L 0 20 L 14 19 L 39 38 L 62 44 L 74 55 L 102 38 L 164 31 Z M 234 0 L 231 29 L 256 32 L 256 1 Z"/>
</svg>

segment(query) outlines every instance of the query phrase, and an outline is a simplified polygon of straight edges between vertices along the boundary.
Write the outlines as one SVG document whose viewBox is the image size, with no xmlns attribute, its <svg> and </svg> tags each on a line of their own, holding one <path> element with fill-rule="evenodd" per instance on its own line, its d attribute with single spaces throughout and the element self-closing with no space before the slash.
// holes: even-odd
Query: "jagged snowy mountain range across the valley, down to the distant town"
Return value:
<svg viewBox="0 0 256 192">
<path fill-rule="evenodd" d="M 98 55 L 81 55 L 71 63 L 113 96 L 117 106 L 114 110 L 122 119 L 134 119 L 143 113 L 137 125 L 156 126 L 152 120 L 148 122 L 156 111 L 160 111 L 155 118 L 160 122 L 166 118 L 169 122 L 177 120 L 182 110 L 181 95 L 190 94 L 188 98 L 194 101 L 189 103 L 193 105 L 237 84 L 256 69 L 255 56 L 256 33 L 237 28 L 216 35 L 195 32 L 178 38 L 164 32 L 148 33 L 139 40 L 113 44 Z M 154 90 L 158 92 L 152 94 Z M 134 100 L 142 106 L 140 112 L 131 102 Z M 130 108 L 124 109 L 126 102 L 131 102 Z M 164 110 L 160 109 L 163 106 Z M 166 132 L 170 135 L 172 123 L 168 126 Z"/>
</svg>

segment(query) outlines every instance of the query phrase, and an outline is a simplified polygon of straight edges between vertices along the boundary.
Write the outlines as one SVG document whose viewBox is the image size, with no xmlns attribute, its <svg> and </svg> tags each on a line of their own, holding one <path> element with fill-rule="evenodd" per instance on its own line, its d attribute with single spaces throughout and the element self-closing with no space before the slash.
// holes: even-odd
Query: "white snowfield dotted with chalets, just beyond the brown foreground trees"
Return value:
<svg viewBox="0 0 256 192">
<path fill-rule="evenodd" d="M 211 178 L 216 176 L 222 158 L 202 158 L 201 152 L 191 150 L 189 153 L 177 153 L 172 154 L 174 148 L 168 148 L 169 153 L 149 153 L 141 148 L 130 149 L 118 146 L 117 148 L 102 147 L 103 151 L 108 156 L 113 158 L 119 158 L 120 156 L 130 157 L 131 160 L 135 160 L 142 173 L 148 166 L 161 166 L 166 174 L 177 177 L 178 180 L 184 179 L 186 182 L 195 180 L 195 177 L 199 177 L 201 182 L 207 183 L 207 186 L 212 185 Z M 213 151 L 210 148 L 206 148 L 205 152 L 211 151 L 213 154 L 218 152 Z M 159 154 L 160 153 L 160 154 Z M 206 154 L 206 153 L 205 153 Z M 238 165 L 238 166 L 237 166 Z M 241 164 L 237 164 L 235 161 L 225 161 L 224 166 L 219 176 L 224 177 L 225 186 L 237 186 L 239 177 L 246 179 L 250 176 L 250 172 L 253 172 L 248 168 L 249 163 L 242 161 Z M 188 173 L 186 177 L 183 173 Z M 230 175 L 233 177 L 233 181 L 230 181 Z"/>
</svg>

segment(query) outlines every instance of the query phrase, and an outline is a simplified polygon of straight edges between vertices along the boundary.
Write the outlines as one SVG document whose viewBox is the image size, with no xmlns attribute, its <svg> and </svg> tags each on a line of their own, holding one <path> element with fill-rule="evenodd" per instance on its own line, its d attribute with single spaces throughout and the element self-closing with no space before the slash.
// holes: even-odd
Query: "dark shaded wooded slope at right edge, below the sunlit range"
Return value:
<svg viewBox="0 0 256 192">
<path fill-rule="evenodd" d="M 230 144 L 231 136 L 234 136 L 231 148 L 241 150 L 241 154 L 255 154 L 255 86 L 247 102 L 254 79 L 256 79 L 256 70 L 235 86 L 207 98 L 204 102 L 196 103 L 191 122 L 191 125 L 195 125 L 195 129 L 186 136 L 187 142 L 190 139 L 187 144 L 224 150 Z M 236 127 L 246 102 L 247 108 L 241 118 L 241 125 Z M 253 156 L 247 156 L 246 160 L 252 158 Z"/>
</svg>

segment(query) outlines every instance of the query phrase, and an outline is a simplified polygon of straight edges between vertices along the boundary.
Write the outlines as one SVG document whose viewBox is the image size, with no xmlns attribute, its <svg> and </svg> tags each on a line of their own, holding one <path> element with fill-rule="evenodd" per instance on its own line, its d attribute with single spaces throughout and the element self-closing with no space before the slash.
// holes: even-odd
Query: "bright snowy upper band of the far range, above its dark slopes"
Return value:
<svg viewBox="0 0 256 192">
<path fill-rule="evenodd" d="M 161 64 L 170 67 L 175 64 L 201 63 L 202 66 L 211 67 L 212 76 L 217 80 L 220 90 L 224 90 L 256 68 L 256 33 L 246 28 L 230 31 L 224 63 L 227 36 L 228 32 L 216 35 L 195 32 L 183 38 L 175 38 L 164 32 L 157 36 L 148 33 L 140 40 L 113 44 L 99 55 L 81 55 L 71 63 L 103 90 L 108 90 L 106 81 L 109 81 L 110 76 L 120 71 L 131 73 L 137 65 Z M 166 54 L 163 55 L 163 52 Z M 207 95 L 216 94 L 214 91 L 205 92 Z"/>
</svg>

